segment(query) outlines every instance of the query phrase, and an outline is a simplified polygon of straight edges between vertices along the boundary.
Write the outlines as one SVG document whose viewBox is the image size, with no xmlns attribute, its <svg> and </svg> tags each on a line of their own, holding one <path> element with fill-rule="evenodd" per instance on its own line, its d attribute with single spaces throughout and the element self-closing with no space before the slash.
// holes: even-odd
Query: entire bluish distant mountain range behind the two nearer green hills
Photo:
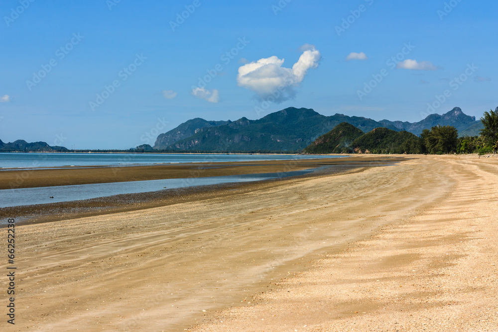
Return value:
<svg viewBox="0 0 498 332">
<path fill-rule="evenodd" d="M 301 151 L 319 136 L 342 122 L 352 124 L 363 132 L 385 127 L 394 131 L 408 131 L 420 135 L 423 129 L 435 125 L 453 125 L 462 133 L 479 134 L 481 121 L 458 107 L 443 114 L 430 114 L 419 122 L 381 120 L 361 116 L 335 114 L 325 116 L 312 109 L 287 108 L 257 120 L 242 117 L 237 121 L 188 120 L 178 127 L 160 134 L 156 150 L 190 151 Z"/>
</svg>

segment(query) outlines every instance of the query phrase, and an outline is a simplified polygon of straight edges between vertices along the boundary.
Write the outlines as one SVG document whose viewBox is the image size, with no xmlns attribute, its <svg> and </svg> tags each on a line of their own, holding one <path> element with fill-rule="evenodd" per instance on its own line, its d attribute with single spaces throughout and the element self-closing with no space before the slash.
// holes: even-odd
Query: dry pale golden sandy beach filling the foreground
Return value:
<svg viewBox="0 0 498 332">
<path fill-rule="evenodd" d="M 19 225 L 8 331 L 498 331 L 497 159 L 398 157 Z"/>
</svg>

